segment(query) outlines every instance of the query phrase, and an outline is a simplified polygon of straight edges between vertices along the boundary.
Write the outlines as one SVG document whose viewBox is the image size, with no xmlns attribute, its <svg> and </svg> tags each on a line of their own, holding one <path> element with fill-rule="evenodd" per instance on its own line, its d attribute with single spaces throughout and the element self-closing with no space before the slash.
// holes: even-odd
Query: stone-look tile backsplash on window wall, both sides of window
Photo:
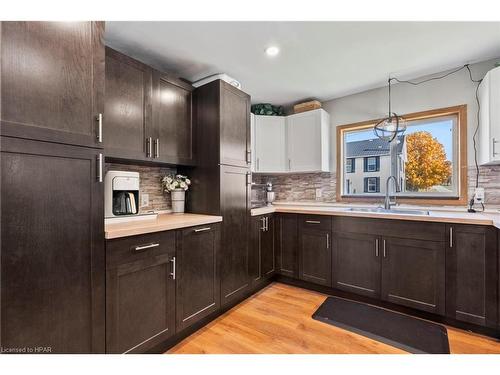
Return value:
<svg viewBox="0 0 500 375">
<path fill-rule="evenodd" d="M 474 192 L 476 168 L 469 167 L 468 196 Z M 336 201 L 336 174 L 306 173 L 283 175 L 254 175 L 254 182 L 271 182 L 280 201 Z M 479 186 L 485 190 L 485 205 L 489 209 L 500 208 L 500 165 L 479 167 Z M 321 197 L 316 198 L 316 189 L 321 189 Z"/>
</svg>

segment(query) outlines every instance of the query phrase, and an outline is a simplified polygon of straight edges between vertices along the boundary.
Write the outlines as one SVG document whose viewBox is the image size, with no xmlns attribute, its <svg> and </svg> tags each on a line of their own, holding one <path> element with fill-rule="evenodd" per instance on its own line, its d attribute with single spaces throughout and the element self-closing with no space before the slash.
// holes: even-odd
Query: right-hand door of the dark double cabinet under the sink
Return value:
<svg viewBox="0 0 500 375">
<path fill-rule="evenodd" d="M 444 315 L 444 244 L 382 239 L 382 299 Z"/>
</svg>

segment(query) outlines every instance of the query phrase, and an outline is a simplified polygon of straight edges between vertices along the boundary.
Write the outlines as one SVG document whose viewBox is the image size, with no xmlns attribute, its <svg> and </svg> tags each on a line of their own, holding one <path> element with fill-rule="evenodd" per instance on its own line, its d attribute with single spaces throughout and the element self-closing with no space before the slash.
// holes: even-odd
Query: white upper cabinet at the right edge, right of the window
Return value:
<svg viewBox="0 0 500 375">
<path fill-rule="evenodd" d="M 479 164 L 500 164 L 500 67 L 484 77 L 479 102 Z"/>
</svg>

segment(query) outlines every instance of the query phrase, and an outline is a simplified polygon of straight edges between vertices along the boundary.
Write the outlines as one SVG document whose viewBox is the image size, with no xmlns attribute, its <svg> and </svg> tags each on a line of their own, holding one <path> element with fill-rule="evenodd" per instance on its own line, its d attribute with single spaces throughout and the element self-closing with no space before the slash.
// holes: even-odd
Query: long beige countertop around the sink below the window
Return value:
<svg viewBox="0 0 500 375">
<path fill-rule="evenodd" d="M 444 222 L 453 224 L 492 225 L 500 229 L 500 212 L 495 211 L 468 213 L 464 212 L 464 208 L 461 208 L 461 211 L 459 211 L 459 209 L 448 207 L 398 207 L 401 209 L 429 211 L 429 215 L 413 215 L 407 213 L 359 212 L 349 210 L 350 208 L 355 209 L 356 207 L 376 206 L 341 205 L 315 202 L 277 202 L 272 207 L 254 208 L 252 209 L 251 214 L 252 216 L 258 216 L 271 212 L 283 212 L 311 215 L 369 217 L 379 219 Z"/>
</svg>

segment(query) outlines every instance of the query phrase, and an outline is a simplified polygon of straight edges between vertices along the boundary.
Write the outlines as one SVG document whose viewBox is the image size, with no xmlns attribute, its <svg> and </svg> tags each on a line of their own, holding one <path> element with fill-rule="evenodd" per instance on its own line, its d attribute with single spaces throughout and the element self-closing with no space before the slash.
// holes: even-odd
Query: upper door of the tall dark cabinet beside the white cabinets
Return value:
<svg viewBox="0 0 500 375">
<path fill-rule="evenodd" d="M 250 164 L 250 96 L 220 81 L 220 164 Z"/>
</svg>

